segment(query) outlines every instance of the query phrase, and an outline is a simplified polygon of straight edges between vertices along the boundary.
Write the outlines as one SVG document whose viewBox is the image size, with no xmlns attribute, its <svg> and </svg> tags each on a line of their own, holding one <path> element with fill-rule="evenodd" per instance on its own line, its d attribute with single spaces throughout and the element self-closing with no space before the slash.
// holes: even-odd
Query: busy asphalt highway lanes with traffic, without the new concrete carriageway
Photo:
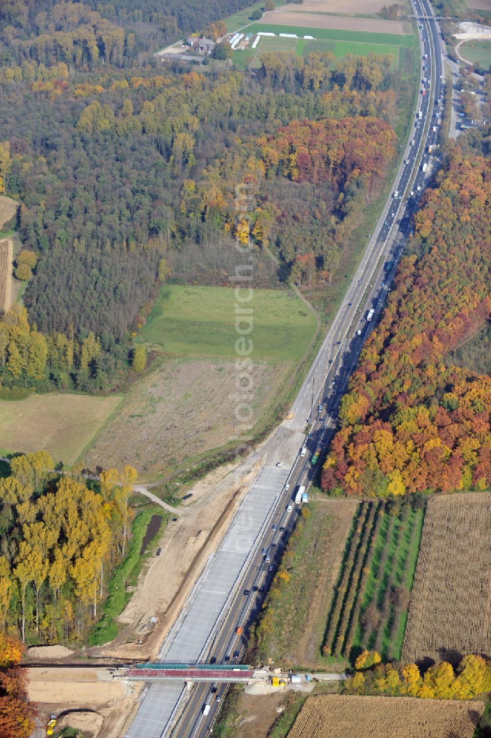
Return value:
<svg viewBox="0 0 491 738">
<path fill-rule="evenodd" d="M 405 240 L 411 232 L 411 216 L 431 172 L 429 147 L 439 139 L 443 110 L 442 44 L 439 25 L 429 0 L 413 0 L 419 18 L 421 80 L 413 128 L 405 156 L 397 173 L 394 191 L 386 204 L 374 236 L 346 292 L 315 362 L 292 406 L 292 433 L 304 438 L 274 514 L 253 551 L 241 583 L 227 603 L 227 612 L 216 629 L 205 661 L 241 661 L 247 632 L 261 610 L 265 593 L 275 575 L 286 540 L 295 526 L 301 506 L 295 504 L 298 486 L 308 486 L 317 467 L 312 457 L 317 448 L 325 449 L 337 426 L 337 408 L 346 391 L 363 342 L 380 314 L 394 277 Z M 421 114 L 421 117 L 420 117 Z M 426 166 L 423 166 L 426 165 Z M 373 317 L 368 320 L 369 311 Z M 318 405 L 322 404 L 322 410 Z M 288 424 L 286 424 L 288 426 Z M 296 437 L 296 436 L 295 436 Z M 306 452 L 301 448 L 305 446 Z M 278 463 L 283 463 L 278 461 Z M 285 466 L 290 466 L 286 463 Z M 213 732 L 227 686 L 198 683 L 188 699 L 181 699 L 173 725 L 162 725 L 162 738 L 204 738 Z M 142 703 L 140 709 L 144 708 Z M 205 707 L 209 706 L 209 709 Z M 204 714 L 206 712 L 206 714 Z"/>
</svg>

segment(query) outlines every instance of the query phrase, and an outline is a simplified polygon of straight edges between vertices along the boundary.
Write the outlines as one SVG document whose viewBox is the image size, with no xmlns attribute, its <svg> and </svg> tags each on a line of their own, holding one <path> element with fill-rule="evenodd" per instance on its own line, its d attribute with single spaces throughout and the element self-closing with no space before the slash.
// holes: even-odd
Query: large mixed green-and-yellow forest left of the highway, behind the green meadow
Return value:
<svg viewBox="0 0 491 738">
<path fill-rule="evenodd" d="M 267 286 L 290 275 L 332 283 L 396 153 L 394 89 L 405 83 L 387 57 L 136 68 L 150 43 L 141 25 L 133 38 L 100 9 L 20 6 L 0 34 L 0 179 L 34 261 L 16 266 L 27 317 L 0 324 L 4 387 L 121 382 L 180 252 L 194 253 L 185 278 L 221 283 L 213 244 L 233 252 L 234 238 L 251 238 L 258 258 L 278 263 Z M 238 218 L 241 183 L 251 197 Z"/>
</svg>

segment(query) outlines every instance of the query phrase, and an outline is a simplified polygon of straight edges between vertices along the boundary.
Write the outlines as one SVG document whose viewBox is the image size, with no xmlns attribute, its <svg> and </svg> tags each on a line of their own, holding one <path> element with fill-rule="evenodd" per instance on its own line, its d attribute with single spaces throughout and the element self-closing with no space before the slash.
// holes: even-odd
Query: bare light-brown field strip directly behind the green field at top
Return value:
<svg viewBox="0 0 491 738">
<path fill-rule="evenodd" d="M 271 10 L 269 13 L 264 13 L 263 18 L 258 22 L 295 28 L 332 28 L 333 30 L 393 33 L 396 35 L 403 35 L 405 32 L 401 21 L 385 21 L 383 18 L 354 18 L 350 15 L 306 13 L 303 5 L 301 8 L 301 13 L 283 10 L 282 8 Z M 315 32 L 312 35 L 315 36 Z"/>
</svg>

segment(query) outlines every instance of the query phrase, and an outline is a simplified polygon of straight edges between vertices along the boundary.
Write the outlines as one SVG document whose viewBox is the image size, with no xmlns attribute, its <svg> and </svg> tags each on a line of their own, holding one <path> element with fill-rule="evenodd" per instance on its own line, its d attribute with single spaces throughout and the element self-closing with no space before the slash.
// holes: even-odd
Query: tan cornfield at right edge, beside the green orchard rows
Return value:
<svg viewBox="0 0 491 738">
<path fill-rule="evenodd" d="M 491 494 L 431 497 L 402 661 L 491 655 Z"/>
</svg>

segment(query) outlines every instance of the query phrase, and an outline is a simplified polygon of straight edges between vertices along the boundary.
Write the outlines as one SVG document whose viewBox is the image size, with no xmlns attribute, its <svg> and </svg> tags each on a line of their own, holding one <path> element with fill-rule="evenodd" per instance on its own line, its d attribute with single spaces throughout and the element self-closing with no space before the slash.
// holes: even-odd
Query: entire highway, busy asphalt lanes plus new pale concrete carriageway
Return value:
<svg viewBox="0 0 491 738">
<path fill-rule="evenodd" d="M 346 298 L 295 399 L 292 417 L 251 455 L 253 460 L 261 459 L 261 472 L 166 638 L 159 654 L 161 661 L 240 660 L 247 628 L 261 607 L 300 512 L 293 503 L 297 486 L 308 484 L 316 471 L 312 454 L 317 446 L 325 447 L 334 433 L 348 376 L 385 303 L 411 228 L 411 215 L 430 171 L 428 146 L 436 145 L 440 121 L 436 113 L 441 114 L 438 100 L 442 100 L 444 80 L 439 27 L 436 21 L 424 19 L 431 15 L 428 0 L 414 0 L 413 5 L 416 14 L 423 16 L 419 33 L 422 80 L 426 81 L 421 84 L 414 129 L 396 176 L 394 196 L 388 200 Z M 422 163 L 428 164 L 425 172 Z M 394 261 L 390 271 L 388 261 Z M 368 322 L 366 315 L 372 308 L 374 317 Z M 325 405 L 323 413 L 317 413 L 320 402 Z M 302 456 L 305 444 L 308 452 Z M 242 632 L 237 632 L 239 627 Z M 152 684 L 126 736 L 203 737 L 210 732 L 225 689 L 200 684 L 188 692 L 184 684 Z M 210 710 L 204 715 L 207 704 Z"/>
</svg>

